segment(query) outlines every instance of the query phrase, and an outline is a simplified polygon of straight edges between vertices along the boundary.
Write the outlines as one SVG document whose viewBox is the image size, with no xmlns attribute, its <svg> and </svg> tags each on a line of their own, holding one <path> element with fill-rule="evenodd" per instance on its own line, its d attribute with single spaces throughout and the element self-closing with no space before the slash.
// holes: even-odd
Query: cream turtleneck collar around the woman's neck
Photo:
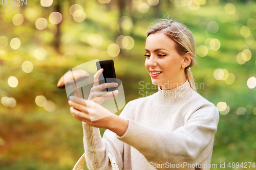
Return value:
<svg viewBox="0 0 256 170">
<path fill-rule="evenodd" d="M 195 91 L 191 89 L 188 80 L 186 80 L 182 85 L 170 90 L 161 90 L 160 86 L 158 86 L 157 97 L 160 105 L 169 106 L 186 101 L 193 96 L 194 92 Z"/>
</svg>

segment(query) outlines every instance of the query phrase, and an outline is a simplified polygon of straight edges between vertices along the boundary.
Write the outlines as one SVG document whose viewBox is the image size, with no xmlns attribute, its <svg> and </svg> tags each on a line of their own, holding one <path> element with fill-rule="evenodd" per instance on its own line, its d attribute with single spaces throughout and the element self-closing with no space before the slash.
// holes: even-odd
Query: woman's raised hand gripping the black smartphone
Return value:
<svg viewBox="0 0 256 170">
<path fill-rule="evenodd" d="M 102 74 L 103 68 L 99 69 L 93 76 L 93 87 L 91 88 L 88 100 L 101 104 L 105 99 L 113 98 L 118 94 L 118 90 L 115 91 L 101 91 L 104 88 L 117 87 L 117 83 L 103 83 L 99 84 L 99 76 Z"/>
</svg>

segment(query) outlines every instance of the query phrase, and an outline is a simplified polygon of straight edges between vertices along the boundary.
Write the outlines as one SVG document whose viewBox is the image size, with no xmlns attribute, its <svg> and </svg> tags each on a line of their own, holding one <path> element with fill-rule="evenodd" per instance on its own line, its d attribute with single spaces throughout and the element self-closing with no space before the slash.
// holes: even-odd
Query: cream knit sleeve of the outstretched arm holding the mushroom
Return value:
<svg viewBox="0 0 256 170">
<path fill-rule="evenodd" d="M 192 164 L 214 139 L 218 122 L 219 112 L 210 103 L 202 105 L 191 114 L 184 126 L 173 132 L 146 127 L 129 120 L 125 134 L 117 137 L 136 148 L 153 164 Z"/>
</svg>

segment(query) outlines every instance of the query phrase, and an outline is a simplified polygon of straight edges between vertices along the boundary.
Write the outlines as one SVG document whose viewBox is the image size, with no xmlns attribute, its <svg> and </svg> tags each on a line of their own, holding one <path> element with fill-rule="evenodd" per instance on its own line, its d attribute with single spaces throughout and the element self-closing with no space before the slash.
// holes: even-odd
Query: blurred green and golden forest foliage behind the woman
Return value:
<svg viewBox="0 0 256 170">
<path fill-rule="evenodd" d="M 81 63 L 113 58 L 107 49 L 110 44 L 116 43 L 119 35 L 131 36 L 135 41 L 131 50 L 121 49 L 119 55 L 114 57 L 116 75 L 122 81 L 126 103 L 146 93 L 156 92 L 155 89 L 139 89 L 141 84 L 151 84 L 144 68 L 145 32 L 154 19 L 166 13 L 188 26 L 195 36 L 197 47 L 205 45 L 207 38 L 218 39 L 221 44 L 217 51 L 207 50 L 205 57 L 200 57 L 197 48 L 198 64 L 191 69 L 196 83 L 208 84 L 198 92 L 216 106 L 225 102 L 230 108 L 227 114 L 220 114 L 211 163 L 217 163 L 219 167 L 220 162 L 226 162 L 225 169 L 228 169 L 227 162 L 256 162 L 256 88 L 249 89 L 247 86 L 247 80 L 256 77 L 256 43 L 254 38 L 249 41 L 241 35 L 241 27 L 248 26 L 248 19 L 256 19 L 255 2 L 232 1 L 236 10 L 234 14 L 224 15 L 229 17 L 225 23 L 220 12 L 227 12 L 225 5 L 230 1 L 198 0 L 205 4 L 200 5 L 198 10 L 191 10 L 189 1 L 160 0 L 157 6 L 148 6 L 148 12 L 144 14 L 136 11 L 137 7 L 154 1 L 99 2 L 54 1 L 50 7 L 42 7 L 40 1 L 28 1 L 28 6 L 20 7 L 0 5 L 0 37 L 8 39 L 7 46 L 3 39 L 0 42 L 0 98 L 7 96 L 16 101 L 13 108 L 0 104 L 1 169 L 72 169 L 83 153 L 82 126 L 69 113 L 65 90 L 58 89 L 56 84 L 63 74 Z M 84 21 L 73 19 L 70 14 L 73 4 L 82 6 L 86 13 Z M 53 27 L 57 29 L 56 35 L 47 36 L 47 31 L 38 30 L 35 23 L 42 17 L 50 24 L 49 16 L 55 11 L 61 13 L 62 20 Z M 24 21 L 22 25 L 15 26 L 13 17 L 18 13 L 24 16 Z M 131 18 L 133 25 L 130 29 L 120 28 L 119 19 L 122 16 Z M 211 30 L 210 21 L 217 23 L 217 32 Z M 54 29 L 50 30 L 50 33 L 53 32 Z M 101 36 L 99 47 L 91 46 L 89 37 L 92 34 Z M 255 30 L 250 30 L 250 38 L 255 36 Z M 15 37 L 21 42 L 17 50 L 10 45 Z M 43 60 L 35 58 L 38 47 L 44 48 L 47 53 Z M 244 49 L 249 49 L 252 56 L 249 61 L 239 64 L 237 55 Z M 63 56 L 67 52 L 73 53 L 75 60 L 68 58 L 64 61 Z M 25 61 L 33 64 L 30 73 L 23 71 Z M 232 73 L 234 82 L 228 85 L 225 81 L 214 79 L 218 68 Z M 9 86 L 10 76 L 17 78 L 17 87 Z M 53 101 L 56 109 L 47 112 L 44 107 L 37 106 L 35 98 L 38 95 Z M 245 108 L 243 115 L 238 115 L 238 108 Z M 101 132 L 103 134 L 104 129 Z"/>
</svg>

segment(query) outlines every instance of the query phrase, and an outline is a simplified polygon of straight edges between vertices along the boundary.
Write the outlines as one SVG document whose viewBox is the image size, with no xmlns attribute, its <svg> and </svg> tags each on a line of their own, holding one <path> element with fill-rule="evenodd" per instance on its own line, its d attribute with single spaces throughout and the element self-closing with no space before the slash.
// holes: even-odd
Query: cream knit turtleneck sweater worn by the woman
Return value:
<svg viewBox="0 0 256 170">
<path fill-rule="evenodd" d="M 89 169 L 111 169 L 108 152 L 120 169 L 209 169 L 219 112 L 190 88 L 188 81 L 172 90 L 133 100 L 119 115 L 129 120 L 123 136 L 83 122 Z M 200 165 L 199 165 L 200 167 Z"/>
</svg>

